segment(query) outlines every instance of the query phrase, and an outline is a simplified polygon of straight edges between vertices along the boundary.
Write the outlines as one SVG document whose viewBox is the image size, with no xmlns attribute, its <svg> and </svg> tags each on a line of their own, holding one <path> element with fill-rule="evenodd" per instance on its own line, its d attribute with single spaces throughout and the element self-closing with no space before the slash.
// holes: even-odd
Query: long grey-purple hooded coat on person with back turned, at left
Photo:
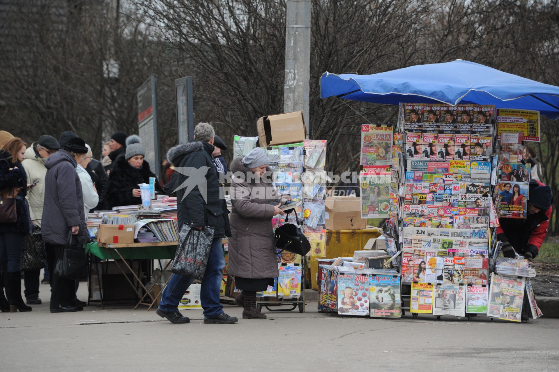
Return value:
<svg viewBox="0 0 559 372">
<path fill-rule="evenodd" d="M 46 159 L 45 205 L 42 210 L 42 239 L 50 244 L 66 244 L 68 232 L 78 225 L 72 243 L 89 241 L 83 209 L 82 184 L 75 171 L 77 163 L 66 150 L 58 150 Z"/>
</svg>

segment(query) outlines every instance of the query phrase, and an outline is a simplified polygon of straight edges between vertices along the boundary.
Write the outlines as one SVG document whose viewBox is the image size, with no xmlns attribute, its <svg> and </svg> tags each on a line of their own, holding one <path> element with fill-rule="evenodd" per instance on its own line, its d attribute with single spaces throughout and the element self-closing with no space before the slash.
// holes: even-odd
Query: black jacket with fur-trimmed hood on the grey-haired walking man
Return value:
<svg viewBox="0 0 559 372">
<path fill-rule="evenodd" d="M 229 237 L 231 236 L 229 210 L 224 197 L 220 197 L 222 192 L 219 175 L 212 161 L 212 152 L 214 146 L 196 140 L 171 148 L 167 152 L 167 159 L 177 167 L 177 173 L 174 173 L 169 183 L 174 190 L 177 190 L 183 182 L 186 182 L 183 188 L 177 190 L 179 228 L 185 223 L 192 227 L 211 226 L 215 229 L 214 237 Z M 188 182 L 190 177 L 182 174 L 182 172 L 188 173 L 187 167 L 199 169 L 200 176 L 205 180 L 193 179 L 192 183 Z M 204 184 L 207 186 L 206 198 L 198 189 L 198 185 Z M 184 196 L 185 191 L 188 191 L 186 196 Z"/>
</svg>

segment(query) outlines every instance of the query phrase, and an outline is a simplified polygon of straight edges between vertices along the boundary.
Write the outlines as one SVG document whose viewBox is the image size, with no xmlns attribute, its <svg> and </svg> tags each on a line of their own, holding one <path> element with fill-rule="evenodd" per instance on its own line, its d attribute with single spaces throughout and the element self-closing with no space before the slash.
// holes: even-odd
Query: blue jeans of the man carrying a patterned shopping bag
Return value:
<svg viewBox="0 0 559 372">
<path fill-rule="evenodd" d="M 221 248 L 221 238 L 216 238 L 211 244 L 210 256 L 200 290 L 205 318 L 213 318 L 223 312 L 223 307 L 219 303 L 219 289 L 224 267 L 225 257 Z M 178 311 L 178 304 L 193 281 L 191 277 L 173 274 L 161 295 L 159 310 L 166 313 Z"/>
</svg>

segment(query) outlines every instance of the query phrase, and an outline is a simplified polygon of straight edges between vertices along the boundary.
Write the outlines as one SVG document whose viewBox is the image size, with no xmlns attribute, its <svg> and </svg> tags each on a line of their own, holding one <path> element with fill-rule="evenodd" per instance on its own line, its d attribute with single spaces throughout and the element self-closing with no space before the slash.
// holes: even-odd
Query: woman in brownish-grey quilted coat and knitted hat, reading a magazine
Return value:
<svg viewBox="0 0 559 372">
<path fill-rule="evenodd" d="M 279 206 L 285 199 L 272 185 L 268 156 L 255 148 L 244 158 L 231 162 L 231 237 L 229 238 L 229 274 L 242 290 L 235 303 L 244 308 L 243 319 L 266 319 L 256 307 L 256 293 L 273 285 L 278 277 L 272 218 L 285 214 Z"/>
</svg>

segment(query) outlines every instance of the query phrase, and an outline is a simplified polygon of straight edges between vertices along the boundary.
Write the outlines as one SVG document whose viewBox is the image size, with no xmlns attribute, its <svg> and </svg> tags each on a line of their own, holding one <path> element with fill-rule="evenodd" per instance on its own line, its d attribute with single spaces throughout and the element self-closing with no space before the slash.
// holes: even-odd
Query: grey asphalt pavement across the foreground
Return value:
<svg viewBox="0 0 559 372">
<path fill-rule="evenodd" d="M 0 313 L 0 369 L 5 371 L 557 371 L 559 319 L 528 323 L 432 316 L 350 318 L 297 310 L 266 320 L 171 324 L 146 307 L 86 307 Z M 86 298 L 81 285 L 78 298 Z M 225 305 L 241 317 L 241 308 Z"/>
</svg>

